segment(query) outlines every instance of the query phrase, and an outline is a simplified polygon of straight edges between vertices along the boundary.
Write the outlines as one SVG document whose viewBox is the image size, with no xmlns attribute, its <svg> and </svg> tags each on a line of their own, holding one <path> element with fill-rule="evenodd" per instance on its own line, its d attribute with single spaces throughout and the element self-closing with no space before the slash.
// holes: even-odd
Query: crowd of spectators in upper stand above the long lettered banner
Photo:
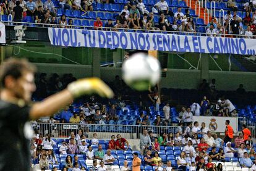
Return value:
<svg viewBox="0 0 256 171">
<path fill-rule="evenodd" d="M 116 31 L 117 28 L 187 31 L 191 33 L 197 31 L 205 32 L 206 30 L 208 36 L 221 36 L 216 35 L 216 33 L 227 33 L 244 35 L 245 38 L 253 38 L 252 36 L 255 35 L 256 10 L 254 2 L 252 1 L 244 3 L 244 9 L 243 7 L 238 8 L 238 5 L 233 0 L 229 0 L 226 4 L 225 2 L 221 2 L 224 3 L 223 9 L 229 9 L 224 15 L 223 24 L 221 24 L 221 21 L 218 20 L 216 16 L 210 16 L 210 22 L 207 24 L 206 29 L 203 20 L 197 22 L 195 19 L 197 15 L 195 15 L 194 12 L 190 14 L 191 9 L 187 7 L 186 3 L 179 4 L 178 1 L 178 4 L 172 4 L 172 2 L 160 0 L 157 2 L 154 1 L 153 4 L 150 3 L 150 6 L 145 6 L 144 2 L 145 1 L 142 0 L 129 0 L 124 2 L 121 6 L 123 7 L 121 12 L 118 12 L 119 10 L 109 9 L 112 12 L 116 12 L 113 17 L 104 17 L 104 15 L 94 16 L 93 14 L 93 16 L 88 17 L 88 19 L 96 20 L 90 26 L 95 27 L 96 30 L 103 30 L 103 27 L 108 27 L 105 30 L 111 29 L 114 31 Z M 117 2 L 113 0 L 47 0 L 45 2 L 41 0 L 0 1 L 2 14 L 12 14 L 15 22 L 22 22 L 25 16 L 29 16 L 31 18 L 28 22 L 59 24 L 61 28 L 74 28 L 74 25 L 82 25 L 82 22 L 74 23 L 74 19 L 71 18 L 81 18 L 83 15 L 87 16 L 90 11 L 96 9 L 101 10 L 100 7 L 98 8 L 98 4 L 109 3 Z M 182 10 L 182 8 L 185 10 Z M 207 6 L 207 8 L 209 7 Z M 79 12 L 76 12 L 76 15 L 72 16 L 64 12 L 59 13 L 58 9 Z M 237 10 L 242 10 L 243 14 L 237 12 Z M 82 15 L 80 11 L 82 11 Z M 112 16 L 112 14 L 109 15 Z M 58 19 L 56 17 L 58 17 Z M 87 17 L 85 17 L 85 19 L 87 19 Z M 108 22 L 103 23 L 102 20 L 108 20 Z M 201 27 L 197 28 L 196 25 Z M 56 26 L 51 25 L 51 27 Z"/>
</svg>

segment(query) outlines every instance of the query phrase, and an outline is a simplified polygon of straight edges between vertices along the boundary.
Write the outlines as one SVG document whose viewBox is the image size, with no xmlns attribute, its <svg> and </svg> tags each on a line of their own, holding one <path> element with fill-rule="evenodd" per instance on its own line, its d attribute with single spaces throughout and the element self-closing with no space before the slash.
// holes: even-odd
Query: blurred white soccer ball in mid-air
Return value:
<svg viewBox="0 0 256 171">
<path fill-rule="evenodd" d="M 154 57 L 139 52 L 133 54 L 122 65 L 122 78 L 131 88 L 143 91 L 160 80 L 160 62 Z"/>
</svg>

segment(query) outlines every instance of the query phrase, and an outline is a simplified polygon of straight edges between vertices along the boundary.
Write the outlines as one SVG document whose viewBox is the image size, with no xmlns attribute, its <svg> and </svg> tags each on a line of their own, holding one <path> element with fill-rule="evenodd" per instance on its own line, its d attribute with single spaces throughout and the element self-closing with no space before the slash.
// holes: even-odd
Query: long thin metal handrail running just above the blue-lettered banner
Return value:
<svg viewBox="0 0 256 171">
<path fill-rule="evenodd" d="M 47 25 L 47 26 L 52 26 L 52 27 L 63 27 L 63 25 L 59 25 L 59 24 L 50 24 L 50 23 L 30 23 L 30 22 L 5 22 L 2 21 L 2 23 L 19 23 L 19 24 L 34 24 L 34 25 Z M 98 28 L 98 27 L 92 27 L 92 26 L 80 26 L 80 25 L 66 25 L 67 27 L 79 27 L 80 29 L 85 29 L 85 28 Z M 42 27 L 36 27 L 36 28 L 42 28 Z M 45 27 L 48 28 L 48 27 Z M 75 28 L 73 28 L 75 29 Z M 175 34 L 179 34 L 179 33 L 188 33 L 191 34 L 191 32 L 188 31 L 163 31 L 163 30 L 145 30 L 145 29 L 133 29 L 133 28 L 109 28 L 109 27 L 102 27 L 102 29 L 110 29 L 110 30 L 133 30 L 133 31 L 146 31 L 146 32 L 163 32 L 163 33 L 175 33 Z M 194 35 L 198 35 L 198 36 L 203 36 L 203 35 L 211 35 L 210 33 L 193 33 Z M 230 34 L 218 34 L 216 33 L 215 35 L 220 35 L 220 36 L 230 36 Z M 243 36 L 243 35 L 233 35 L 233 36 Z M 254 38 L 256 38 L 256 35 L 253 35 Z"/>
</svg>

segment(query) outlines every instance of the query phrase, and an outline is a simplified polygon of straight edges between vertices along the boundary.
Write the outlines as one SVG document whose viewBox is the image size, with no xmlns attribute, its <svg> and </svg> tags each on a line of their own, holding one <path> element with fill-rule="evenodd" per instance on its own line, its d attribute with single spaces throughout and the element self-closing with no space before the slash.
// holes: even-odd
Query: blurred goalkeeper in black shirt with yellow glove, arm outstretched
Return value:
<svg viewBox="0 0 256 171">
<path fill-rule="evenodd" d="M 70 83 L 41 102 L 30 103 L 35 67 L 25 59 L 10 58 L 0 66 L 0 170 L 30 170 L 29 120 L 53 115 L 75 98 L 97 93 L 112 98 L 113 91 L 98 78 Z"/>
</svg>

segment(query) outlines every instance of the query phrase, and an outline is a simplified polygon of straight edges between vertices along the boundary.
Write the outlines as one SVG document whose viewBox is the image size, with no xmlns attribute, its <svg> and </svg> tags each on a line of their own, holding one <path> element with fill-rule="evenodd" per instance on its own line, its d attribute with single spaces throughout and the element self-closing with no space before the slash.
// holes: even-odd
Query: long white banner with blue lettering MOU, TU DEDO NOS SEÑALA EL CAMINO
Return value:
<svg viewBox="0 0 256 171">
<path fill-rule="evenodd" d="M 255 54 L 256 40 L 164 33 L 48 28 L 54 46 L 137 49 L 214 54 Z"/>
</svg>

